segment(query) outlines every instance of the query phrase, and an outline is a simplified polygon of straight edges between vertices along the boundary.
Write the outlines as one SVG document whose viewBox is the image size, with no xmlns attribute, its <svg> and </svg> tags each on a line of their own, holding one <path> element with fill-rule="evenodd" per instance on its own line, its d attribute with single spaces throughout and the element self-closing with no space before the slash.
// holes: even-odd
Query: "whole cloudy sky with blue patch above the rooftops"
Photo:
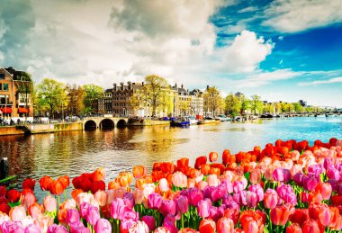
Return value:
<svg viewBox="0 0 342 233">
<path fill-rule="evenodd" d="M 341 0 L 0 0 L 0 67 L 342 107 Z"/>
</svg>

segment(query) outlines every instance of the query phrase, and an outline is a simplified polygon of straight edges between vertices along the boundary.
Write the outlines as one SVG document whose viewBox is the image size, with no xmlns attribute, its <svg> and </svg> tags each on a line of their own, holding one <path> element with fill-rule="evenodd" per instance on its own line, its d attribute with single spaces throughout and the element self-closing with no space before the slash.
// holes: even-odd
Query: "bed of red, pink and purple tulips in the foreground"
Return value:
<svg viewBox="0 0 342 233">
<path fill-rule="evenodd" d="M 275 141 L 248 152 L 155 163 L 72 179 L 40 178 L 23 191 L 0 186 L 0 230 L 7 232 L 342 232 L 342 140 Z M 132 188 L 133 183 L 135 187 Z M 63 195 L 64 193 L 64 195 Z"/>
</svg>

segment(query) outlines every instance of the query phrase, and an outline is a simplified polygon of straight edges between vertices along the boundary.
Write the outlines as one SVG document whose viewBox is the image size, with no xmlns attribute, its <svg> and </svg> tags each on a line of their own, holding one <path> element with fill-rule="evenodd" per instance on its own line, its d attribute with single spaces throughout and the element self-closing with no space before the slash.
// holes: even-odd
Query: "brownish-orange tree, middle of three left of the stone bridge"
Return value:
<svg viewBox="0 0 342 233">
<path fill-rule="evenodd" d="M 85 108 L 85 90 L 80 85 L 67 85 L 67 114 L 77 115 Z"/>
</svg>

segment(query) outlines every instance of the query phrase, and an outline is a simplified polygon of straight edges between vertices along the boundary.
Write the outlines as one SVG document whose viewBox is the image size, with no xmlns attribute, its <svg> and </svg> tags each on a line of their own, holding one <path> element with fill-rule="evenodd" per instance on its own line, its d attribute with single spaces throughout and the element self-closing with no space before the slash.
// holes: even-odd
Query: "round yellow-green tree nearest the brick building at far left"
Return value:
<svg viewBox="0 0 342 233">
<path fill-rule="evenodd" d="M 49 117 L 54 117 L 54 112 L 58 106 L 67 102 L 67 92 L 65 85 L 54 79 L 45 78 L 37 86 L 38 102 L 40 108 L 47 108 Z"/>
</svg>

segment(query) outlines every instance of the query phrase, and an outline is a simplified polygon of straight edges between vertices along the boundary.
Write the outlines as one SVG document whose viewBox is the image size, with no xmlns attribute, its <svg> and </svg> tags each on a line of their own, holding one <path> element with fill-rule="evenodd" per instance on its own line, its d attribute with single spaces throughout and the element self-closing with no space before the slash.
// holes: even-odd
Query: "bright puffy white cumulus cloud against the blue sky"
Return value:
<svg viewBox="0 0 342 233">
<path fill-rule="evenodd" d="M 230 72 L 251 72 L 271 54 L 274 47 L 271 40 L 257 38 L 253 31 L 241 31 L 230 46 L 218 52 L 218 56 L 223 58 L 224 67 L 221 68 Z"/>
</svg>

